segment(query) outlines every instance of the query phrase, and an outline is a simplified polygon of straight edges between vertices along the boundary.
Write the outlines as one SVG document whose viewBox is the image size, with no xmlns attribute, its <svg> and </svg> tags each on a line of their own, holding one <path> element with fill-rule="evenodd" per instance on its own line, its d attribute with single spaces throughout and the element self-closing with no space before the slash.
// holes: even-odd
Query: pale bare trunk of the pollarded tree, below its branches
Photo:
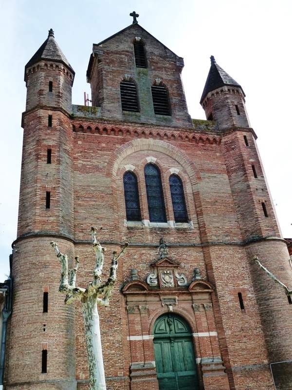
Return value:
<svg viewBox="0 0 292 390">
<path fill-rule="evenodd" d="M 82 300 L 82 312 L 89 363 L 90 390 L 106 390 L 99 315 L 97 311 L 97 294 L 90 295 Z"/>
</svg>

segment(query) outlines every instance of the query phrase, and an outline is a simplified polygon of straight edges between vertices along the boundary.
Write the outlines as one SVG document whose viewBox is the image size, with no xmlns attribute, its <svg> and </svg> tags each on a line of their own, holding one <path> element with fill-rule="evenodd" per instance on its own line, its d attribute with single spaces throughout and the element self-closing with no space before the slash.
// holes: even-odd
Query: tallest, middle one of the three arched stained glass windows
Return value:
<svg viewBox="0 0 292 390">
<path fill-rule="evenodd" d="M 158 167 L 147 164 L 144 168 L 150 222 L 166 222 L 161 176 Z"/>
</svg>

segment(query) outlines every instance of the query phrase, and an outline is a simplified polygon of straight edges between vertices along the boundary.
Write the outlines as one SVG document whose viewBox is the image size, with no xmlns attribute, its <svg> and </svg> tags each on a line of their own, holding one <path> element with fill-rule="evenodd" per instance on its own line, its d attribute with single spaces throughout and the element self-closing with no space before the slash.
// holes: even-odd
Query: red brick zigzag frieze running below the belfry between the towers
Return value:
<svg viewBox="0 0 292 390">
<path fill-rule="evenodd" d="M 122 126 L 95 126 L 92 123 L 74 122 L 73 123 L 74 132 L 82 133 L 94 133 L 102 134 L 109 136 L 120 136 L 120 137 L 136 137 L 136 138 L 154 138 L 154 139 L 167 139 L 172 141 L 184 141 L 184 142 L 193 142 L 202 145 L 219 145 L 220 137 L 207 134 L 193 134 L 183 131 L 164 131 L 164 130 L 154 130 L 154 129 L 131 129 Z"/>
</svg>

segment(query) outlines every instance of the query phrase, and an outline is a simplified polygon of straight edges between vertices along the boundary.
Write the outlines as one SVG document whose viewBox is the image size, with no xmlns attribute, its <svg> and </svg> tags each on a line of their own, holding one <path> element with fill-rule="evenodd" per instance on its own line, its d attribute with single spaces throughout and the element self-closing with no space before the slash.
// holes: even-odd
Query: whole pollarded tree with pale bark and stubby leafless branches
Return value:
<svg viewBox="0 0 292 390">
<path fill-rule="evenodd" d="M 51 246 L 61 263 L 61 281 L 59 292 L 66 294 L 65 304 L 70 304 L 75 300 L 81 302 L 85 327 L 85 341 L 88 358 L 90 390 L 106 390 L 105 370 L 102 357 L 101 336 L 99 315 L 97 305 L 109 306 L 110 295 L 113 292 L 118 268 L 118 259 L 128 247 L 128 242 L 123 246 L 120 254 L 113 252 L 110 267 L 110 276 L 102 284 L 101 275 L 104 264 L 104 253 L 106 248 L 102 247 L 96 240 L 96 228 L 91 227 L 92 246 L 95 252 L 96 262 L 93 270 L 93 280 L 87 288 L 75 287 L 76 273 L 79 264 L 78 256 L 75 257 L 76 266 L 73 270 L 68 270 L 67 254 L 62 254 L 55 242 Z"/>
</svg>

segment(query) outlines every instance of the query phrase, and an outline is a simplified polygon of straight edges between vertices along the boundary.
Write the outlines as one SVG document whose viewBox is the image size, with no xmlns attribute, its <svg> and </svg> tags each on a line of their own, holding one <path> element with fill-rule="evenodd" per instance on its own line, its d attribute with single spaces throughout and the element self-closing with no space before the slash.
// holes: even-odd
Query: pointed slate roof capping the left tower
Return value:
<svg viewBox="0 0 292 390">
<path fill-rule="evenodd" d="M 48 38 L 44 41 L 44 43 L 40 46 L 40 48 L 37 50 L 36 54 L 33 55 L 33 57 L 28 61 L 28 63 L 25 65 L 25 70 L 29 66 L 32 66 L 36 64 L 38 61 L 45 59 L 45 60 L 51 60 L 56 62 L 62 62 L 64 65 L 66 65 L 71 72 L 73 72 L 73 75 L 75 75 L 75 72 L 73 71 L 72 66 L 64 56 L 62 50 L 59 48 L 57 42 L 54 38 L 54 31 L 51 28 L 49 30 Z M 25 72 L 26 74 L 26 72 Z M 25 76 L 24 76 L 24 81 Z"/>
</svg>

